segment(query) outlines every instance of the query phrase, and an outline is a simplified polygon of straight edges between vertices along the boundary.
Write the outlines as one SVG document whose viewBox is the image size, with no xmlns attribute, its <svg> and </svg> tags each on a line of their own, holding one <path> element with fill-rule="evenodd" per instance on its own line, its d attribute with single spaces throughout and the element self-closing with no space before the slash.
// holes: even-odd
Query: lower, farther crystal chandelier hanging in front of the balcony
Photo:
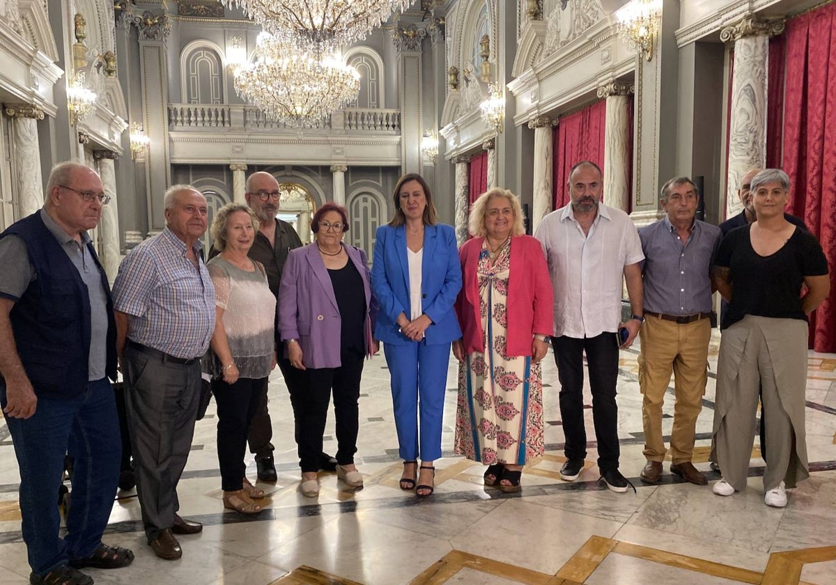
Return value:
<svg viewBox="0 0 836 585">
<path fill-rule="evenodd" d="M 269 118 L 313 128 L 356 97 L 360 76 L 337 54 L 299 53 L 261 33 L 255 59 L 237 69 L 233 85 L 242 99 L 263 109 Z"/>
</svg>

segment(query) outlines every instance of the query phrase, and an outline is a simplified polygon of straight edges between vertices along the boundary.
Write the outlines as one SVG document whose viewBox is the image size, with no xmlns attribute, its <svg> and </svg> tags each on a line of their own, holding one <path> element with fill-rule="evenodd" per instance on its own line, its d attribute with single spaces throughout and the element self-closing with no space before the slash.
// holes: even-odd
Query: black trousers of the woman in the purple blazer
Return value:
<svg viewBox="0 0 836 585">
<path fill-rule="evenodd" d="M 322 435 L 331 390 L 334 390 L 334 416 L 337 428 L 337 463 L 354 463 L 359 428 L 360 376 L 363 355 L 343 354 L 339 368 L 298 370 L 304 374 L 304 389 L 296 397 L 296 434 L 299 467 L 303 472 L 319 471 Z M 293 398 L 293 391 L 291 392 Z"/>
</svg>

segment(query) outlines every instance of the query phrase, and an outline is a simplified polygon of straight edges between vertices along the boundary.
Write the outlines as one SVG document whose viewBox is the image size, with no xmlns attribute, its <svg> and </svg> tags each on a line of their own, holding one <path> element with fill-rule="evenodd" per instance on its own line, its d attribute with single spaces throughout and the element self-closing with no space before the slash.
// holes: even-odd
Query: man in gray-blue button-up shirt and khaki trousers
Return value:
<svg viewBox="0 0 836 585">
<path fill-rule="evenodd" d="M 645 323 L 641 326 L 639 385 L 644 396 L 647 464 L 640 479 L 660 480 L 665 460 L 662 405 L 674 374 L 674 423 L 670 431 L 670 471 L 698 486 L 706 476 L 691 463 L 696 419 L 706 392 L 708 343 L 711 341 L 711 260 L 722 233 L 695 218 L 700 194 L 687 177 L 662 187 L 666 215 L 639 231 L 645 282 Z"/>
</svg>

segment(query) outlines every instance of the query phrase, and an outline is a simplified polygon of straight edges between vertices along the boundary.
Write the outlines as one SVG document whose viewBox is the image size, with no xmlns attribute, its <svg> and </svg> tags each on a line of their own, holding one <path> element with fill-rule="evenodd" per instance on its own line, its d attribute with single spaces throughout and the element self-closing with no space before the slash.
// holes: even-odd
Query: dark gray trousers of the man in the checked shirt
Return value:
<svg viewBox="0 0 836 585">
<path fill-rule="evenodd" d="M 174 364 L 125 348 L 125 406 L 136 493 L 148 542 L 174 525 L 177 482 L 191 450 L 201 365 Z"/>
</svg>

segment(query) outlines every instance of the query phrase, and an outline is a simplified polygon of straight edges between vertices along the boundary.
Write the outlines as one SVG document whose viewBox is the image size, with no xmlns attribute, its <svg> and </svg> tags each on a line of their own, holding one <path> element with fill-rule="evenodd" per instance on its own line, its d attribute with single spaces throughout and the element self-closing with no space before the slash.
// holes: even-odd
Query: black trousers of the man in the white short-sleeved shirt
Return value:
<svg viewBox="0 0 836 585">
<path fill-rule="evenodd" d="M 566 437 L 565 455 L 570 459 L 586 457 L 584 427 L 584 361 L 589 364 L 592 389 L 592 418 L 598 440 L 600 471 L 619 467 L 618 406 L 615 384 L 619 376 L 619 345 L 616 333 L 601 333 L 593 338 L 552 338 L 554 360 L 560 379 L 560 417 Z"/>
</svg>

